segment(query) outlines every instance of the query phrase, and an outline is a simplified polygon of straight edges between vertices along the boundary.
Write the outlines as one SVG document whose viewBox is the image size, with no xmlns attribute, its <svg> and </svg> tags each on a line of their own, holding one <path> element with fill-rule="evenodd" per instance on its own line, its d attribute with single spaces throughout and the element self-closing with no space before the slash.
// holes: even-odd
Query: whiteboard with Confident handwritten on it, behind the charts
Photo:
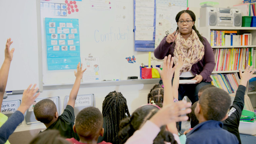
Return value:
<svg viewBox="0 0 256 144">
<path fill-rule="evenodd" d="M 148 65 L 149 53 L 134 51 L 133 1 L 111 0 L 108 8 L 105 7 L 107 5 L 105 2 L 109 1 L 76 1 L 79 11 L 67 14 L 67 16 L 49 15 L 41 11 L 44 85 L 73 83 L 75 80 L 75 69 L 47 69 L 45 17 L 78 19 L 80 57 L 88 57 L 91 53 L 93 57 L 99 58 L 101 80 L 123 80 L 127 79 L 128 76 L 139 77 L 141 63 Z M 51 0 L 49 3 L 65 3 L 65 1 Z M 125 58 L 132 58 L 132 56 L 135 57 L 136 62 L 128 63 Z M 154 56 L 154 54 L 152 53 L 151 56 Z"/>
</svg>

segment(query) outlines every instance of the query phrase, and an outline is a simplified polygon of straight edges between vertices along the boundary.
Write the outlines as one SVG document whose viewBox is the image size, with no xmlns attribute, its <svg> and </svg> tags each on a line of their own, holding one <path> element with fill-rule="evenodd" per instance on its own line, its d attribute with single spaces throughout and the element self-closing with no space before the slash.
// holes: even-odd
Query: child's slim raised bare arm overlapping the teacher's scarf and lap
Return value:
<svg viewBox="0 0 256 144">
<path fill-rule="evenodd" d="M 177 67 L 174 71 L 174 78 L 173 78 L 173 83 L 172 83 L 172 94 L 173 94 L 173 98 L 178 100 L 179 97 L 179 81 L 180 81 L 180 71 L 183 68 L 183 57 L 181 55 L 179 55 L 179 60 L 178 63 L 176 64 Z"/>
</svg>

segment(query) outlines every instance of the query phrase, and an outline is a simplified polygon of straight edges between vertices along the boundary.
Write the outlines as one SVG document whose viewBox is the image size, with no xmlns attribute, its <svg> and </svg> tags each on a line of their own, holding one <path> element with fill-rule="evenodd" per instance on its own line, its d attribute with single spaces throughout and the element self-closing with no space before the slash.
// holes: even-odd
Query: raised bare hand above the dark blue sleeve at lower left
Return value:
<svg viewBox="0 0 256 144">
<path fill-rule="evenodd" d="M 35 89 L 36 84 L 34 84 L 32 86 L 32 88 L 30 89 L 30 87 L 32 86 L 32 84 L 29 85 L 29 87 L 27 89 L 24 90 L 23 92 L 23 96 L 22 96 L 22 102 L 20 107 L 18 108 L 18 110 L 20 112 L 22 112 L 23 114 L 25 113 L 25 111 L 32 105 L 32 103 L 35 101 L 35 99 L 39 96 L 40 92 L 36 93 L 36 91 L 38 90 L 38 87 Z M 35 95 L 35 96 L 34 96 Z"/>
</svg>

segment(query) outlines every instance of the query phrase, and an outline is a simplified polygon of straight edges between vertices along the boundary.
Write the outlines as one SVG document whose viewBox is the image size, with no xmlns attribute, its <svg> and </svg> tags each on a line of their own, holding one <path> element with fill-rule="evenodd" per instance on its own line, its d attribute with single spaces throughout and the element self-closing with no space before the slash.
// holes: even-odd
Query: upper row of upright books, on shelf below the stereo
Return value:
<svg viewBox="0 0 256 144">
<path fill-rule="evenodd" d="M 211 46 L 239 46 L 252 45 L 251 33 L 237 33 L 237 31 L 210 31 Z"/>
</svg>

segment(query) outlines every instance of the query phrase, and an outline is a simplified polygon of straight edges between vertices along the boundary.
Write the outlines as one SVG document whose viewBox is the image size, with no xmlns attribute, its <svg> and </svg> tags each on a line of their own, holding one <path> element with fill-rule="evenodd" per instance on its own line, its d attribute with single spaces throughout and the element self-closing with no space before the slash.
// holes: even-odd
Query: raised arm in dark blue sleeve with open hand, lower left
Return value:
<svg viewBox="0 0 256 144">
<path fill-rule="evenodd" d="M 24 113 L 32 105 L 35 99 L 40 94 L 36 93 L 38 88 L 35 89 L 36 84 L 31 88 L 32 84 L 29 85 L 27 89 L 24 90 L 21 100 L 21 105 L 2 125 L 0 128 L 0 143 L 3 144 L 7 141 L 9 136 L 14 132 L 18 125 L 24 120 Z M 31 88 L 31 89 L 30 89 Z"/>
</svg>

